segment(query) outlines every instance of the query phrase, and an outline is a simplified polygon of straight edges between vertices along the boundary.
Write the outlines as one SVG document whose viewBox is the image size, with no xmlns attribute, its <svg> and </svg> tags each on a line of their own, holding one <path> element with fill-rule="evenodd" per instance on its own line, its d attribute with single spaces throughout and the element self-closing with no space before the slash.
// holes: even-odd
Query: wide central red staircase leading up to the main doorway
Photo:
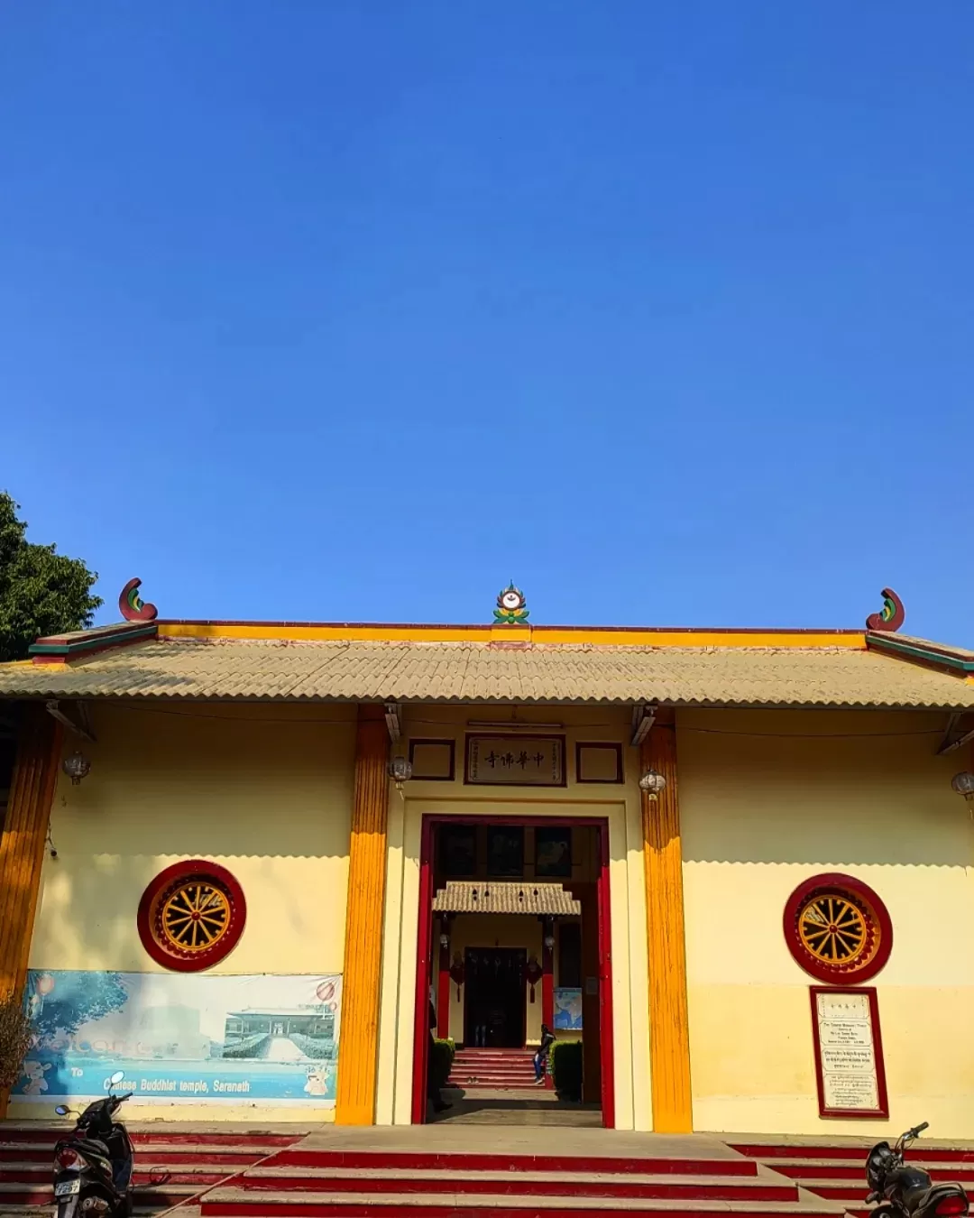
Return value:
<svg viewBox="0 0 974 1218">
<path fill-rule="evenodd" d="M 485 1135 L 487 1130 L 485 1129 Z M 485 1136 L 488 1142 L 488 1136 Z M 431 1140 L 431 1146 L 435 1141 Z M 843 1218 L 752 1160 L 463 1151 L 281 1151 L 212 1189 L 201 1218 Z"/>
</svg>

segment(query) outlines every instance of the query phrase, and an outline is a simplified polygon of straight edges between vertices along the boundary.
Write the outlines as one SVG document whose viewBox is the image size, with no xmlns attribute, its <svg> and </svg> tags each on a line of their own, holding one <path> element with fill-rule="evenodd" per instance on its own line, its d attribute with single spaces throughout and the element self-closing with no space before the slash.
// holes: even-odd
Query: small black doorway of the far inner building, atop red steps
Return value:
<svg viewBox="0 0 974 1218">
<path fill-rule="evenodd" d="M 468 1049 L 522 1049 L 527 952 L 468 948 L 464 967 L 464 1044 Z"/>
</svg>

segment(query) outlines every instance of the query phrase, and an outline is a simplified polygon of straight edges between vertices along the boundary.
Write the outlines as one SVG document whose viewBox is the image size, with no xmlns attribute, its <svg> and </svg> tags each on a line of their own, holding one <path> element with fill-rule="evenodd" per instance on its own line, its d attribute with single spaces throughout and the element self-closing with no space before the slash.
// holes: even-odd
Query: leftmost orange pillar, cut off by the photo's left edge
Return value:
<svg viewBox="0 0 974 1218">
<path fill-rule="evenodd" d="M 27 980 L 60 760 L 60 723 L 40 704 L 24 706 L 0 838 L 0 1000 L 19 996 Z M 0 1119 L 9 1097 L 7 1091 L 0 1093 Z"/>
</svg>

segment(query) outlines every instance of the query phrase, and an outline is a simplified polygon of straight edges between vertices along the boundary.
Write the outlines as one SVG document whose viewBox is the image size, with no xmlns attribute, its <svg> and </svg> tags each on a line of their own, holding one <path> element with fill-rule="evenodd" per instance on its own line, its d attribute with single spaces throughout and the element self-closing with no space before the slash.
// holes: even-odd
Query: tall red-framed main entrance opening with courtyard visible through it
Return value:
<svg viewBox="0 0 974 1218">
<path fill-rule="evenodd" d="M 469 1123 L 472 1107 L 477 1123 L 614 1127 L 609 911 L 606 818 L 422 817 L 415 1124 L 429 1085 L 431 1106 L 444 1088 L 459 1110 L 440 1119 Z M 550 1058 L 534 1078 L 545 1027 L 558 1085 Z M 433 1085 L 429 1062 L 442 1069 L 447 1047 L 453 1069 Z"/>
</svg>

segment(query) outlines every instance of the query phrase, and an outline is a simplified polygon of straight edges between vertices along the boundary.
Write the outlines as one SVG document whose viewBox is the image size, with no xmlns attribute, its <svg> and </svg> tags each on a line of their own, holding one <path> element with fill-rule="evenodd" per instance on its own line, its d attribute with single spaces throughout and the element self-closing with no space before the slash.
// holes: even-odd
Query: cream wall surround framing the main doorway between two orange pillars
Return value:
<svg viewBox="0 0 974 1218">
<path fill-rule="evenodd" d="M 564 723 L 569 783 L 552 787 L 469 787 L 463 782 L 466 720 L 511 719 L 509 708 L 405 709 L 404 736 L 457 741 L 453 782 L 409 783 L 390 797 L 386 933 L 379 1034 L 377 1122 L 412 1119 L 413 1032 L 416 984 L 420 825 L 424 814 L 464 816 L 604 816 L 609 820 L 612 945 L 612 1033 L 616 1128 L 651 1129 L 649 1105 L 649 995 L 643 829 L 637 750 L 625 749 L 620 786 L 575 782 L 576 741 L 628 744 L 631 713 L 622 708 L 517 708 L 519 722 Z M 478 728 L 480 730 L 480 728 Z M 405 742 L 403 743 L 403 752 Z"/>
</svg>

